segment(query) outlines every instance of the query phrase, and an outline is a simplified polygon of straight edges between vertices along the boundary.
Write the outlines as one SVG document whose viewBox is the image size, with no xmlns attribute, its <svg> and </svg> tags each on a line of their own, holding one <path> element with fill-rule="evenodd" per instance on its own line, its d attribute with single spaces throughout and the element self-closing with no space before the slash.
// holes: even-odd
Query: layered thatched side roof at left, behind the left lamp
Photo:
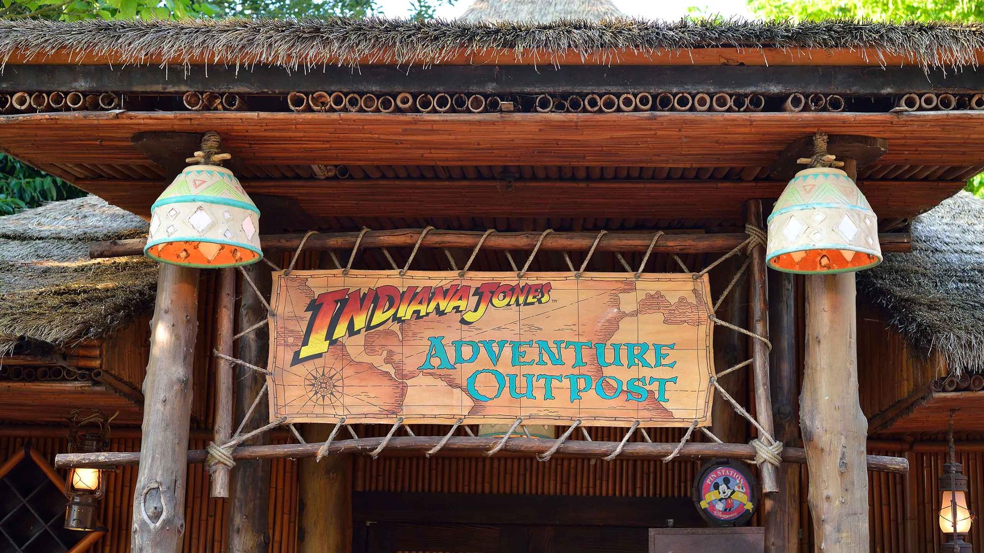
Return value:
<svg viewBox="0 0 984 553">
<path fill-rule="evenodd" d="M 101 337 L 151 307 L 153 261 L 90 259 L 87 248 L 146 233 L 143 219 L 95 196 L 0 217 L 0 355 L 23 339 Z"/>
</svg>

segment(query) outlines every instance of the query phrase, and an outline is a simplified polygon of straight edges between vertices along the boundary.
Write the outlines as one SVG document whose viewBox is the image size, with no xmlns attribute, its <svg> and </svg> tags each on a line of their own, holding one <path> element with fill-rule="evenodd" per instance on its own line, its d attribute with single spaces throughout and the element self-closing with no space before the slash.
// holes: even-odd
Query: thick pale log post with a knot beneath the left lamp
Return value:
<svg viewBox="0 0 984 553">
<path fill-rule="evenodd" d="M 199 270 L 160 264 L 144 379 L 140 469 L 133 498 L 134 553 L 181 550 Z"/>
</svg>

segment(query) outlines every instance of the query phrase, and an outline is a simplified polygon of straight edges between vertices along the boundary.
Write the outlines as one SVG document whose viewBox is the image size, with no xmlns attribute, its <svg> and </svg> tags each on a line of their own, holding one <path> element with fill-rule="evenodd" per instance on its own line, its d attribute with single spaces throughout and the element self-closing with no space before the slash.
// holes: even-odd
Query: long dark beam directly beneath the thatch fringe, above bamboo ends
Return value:
<svg viewBox="0 0 984 553">
<path fill-rule="evenodd" d="M 984 73 L 924 70 L 917 66 L 538 66 L 434 65 L 426 69 L 396 65 L 367 65 L 352 71 L 327 64 L 318 71 L 294 72 L 238 64 L 205 66 L 130 64 L 28 65 L 4 74 L 0 92 L 46 89 L 96 92 L 183 93 L 215 90 L 241 94 L 285 94 L 291 90 L 343 92 L 573 93 L 573 92 L 729 92 L 789 94 L 884 95 L 907 92 L 968 93 L 984 89 Z M 873 71 L 877 71 L 873 75 Z M 248 77 L 244 77 L 248 75 Z"/>
</svg>

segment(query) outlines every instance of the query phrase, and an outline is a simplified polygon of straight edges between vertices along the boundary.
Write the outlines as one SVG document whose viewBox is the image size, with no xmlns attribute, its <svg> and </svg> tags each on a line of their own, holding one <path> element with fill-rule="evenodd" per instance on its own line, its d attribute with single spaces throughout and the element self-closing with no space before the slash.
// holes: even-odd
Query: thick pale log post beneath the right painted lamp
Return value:
<svg viewBox="0 0 984 553">
<path fill-rule="evenodd" d="M 852 159 L 844 171 L 856 179 Z M 858 399 L 854 273 L 809 275 L 800 429 L 814 540 L 825 553 L 866 552 L 868 420 Z"/>
</svg>

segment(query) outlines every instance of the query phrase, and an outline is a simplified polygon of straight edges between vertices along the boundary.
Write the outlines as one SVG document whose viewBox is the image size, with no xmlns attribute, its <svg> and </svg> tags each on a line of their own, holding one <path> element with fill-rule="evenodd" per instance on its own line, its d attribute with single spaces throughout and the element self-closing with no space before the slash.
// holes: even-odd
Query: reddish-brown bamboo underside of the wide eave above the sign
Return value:
<svg viewBox="0 0 984 553">
<path fill-rule="evenodd" d="M 888 152 L 859 178 L 883 222 L 933 207 L 984 168 L 984 112 L 973 111 L 41 113 L 0 116 L 0 149 L 148 216 L 169 176 L 134 136 L 209 130 L 221 134 L 261 209 L 279 198 L 315 218 L 618 214 L 735 223 L 744 199 L 776 197 L 785 186 L 769 176 L 782 149 L 817 131 L 888 139 Z M 339 164 L 356 178 L 312 176 L 312 165 Z M 428 171 L 414 178 L 409 168 Z"/>
</svg>

